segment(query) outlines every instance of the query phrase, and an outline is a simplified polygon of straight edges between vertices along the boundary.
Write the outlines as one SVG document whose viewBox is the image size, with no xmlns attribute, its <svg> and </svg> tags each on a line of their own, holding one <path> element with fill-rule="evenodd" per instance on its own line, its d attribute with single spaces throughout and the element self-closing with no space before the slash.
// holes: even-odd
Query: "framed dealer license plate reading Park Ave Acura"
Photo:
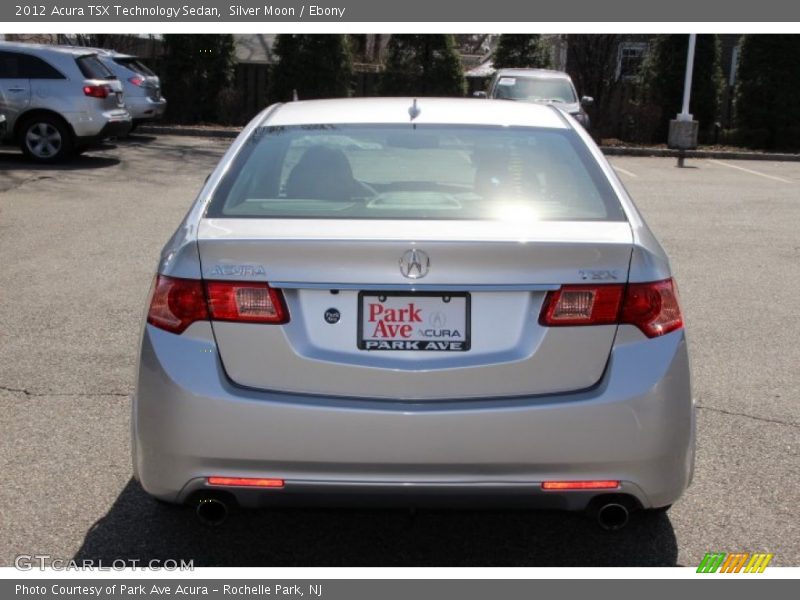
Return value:
<svg viewBox="0 0 800 600">
<path fill-rule="evenodd" d="M 361 292 L 361 350 L 465 352 L 469 350 L 470 298 L 464 292 Z"/>
</svg>

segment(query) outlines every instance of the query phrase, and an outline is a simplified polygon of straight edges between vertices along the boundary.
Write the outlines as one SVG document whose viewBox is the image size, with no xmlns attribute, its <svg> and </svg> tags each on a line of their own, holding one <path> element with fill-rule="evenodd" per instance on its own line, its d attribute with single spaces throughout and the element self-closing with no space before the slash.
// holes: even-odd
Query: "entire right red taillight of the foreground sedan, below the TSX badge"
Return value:
<svg viewBox="0 0 800 600">
<path fill-rule="evenodd" d="M 636 325 L 647 337 L 683 327 L 672 279 L 650 283 L 565 285 L 548 292 L 539 323 L 548 327 Z"/>
</svg>

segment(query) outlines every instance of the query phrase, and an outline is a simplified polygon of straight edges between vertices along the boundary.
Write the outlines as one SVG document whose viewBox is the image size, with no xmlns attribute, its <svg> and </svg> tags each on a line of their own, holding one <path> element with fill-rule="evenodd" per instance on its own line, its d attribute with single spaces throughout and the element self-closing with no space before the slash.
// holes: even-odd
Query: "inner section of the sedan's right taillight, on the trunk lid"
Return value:
<svg viewBox="0 0 800 600">
<path fill-rule="evenodd" d="M 605 325 L 616 323 L 625 290 L 623 285 L 565 285 L 548 292 L 539 323 Z"/>
</svg>

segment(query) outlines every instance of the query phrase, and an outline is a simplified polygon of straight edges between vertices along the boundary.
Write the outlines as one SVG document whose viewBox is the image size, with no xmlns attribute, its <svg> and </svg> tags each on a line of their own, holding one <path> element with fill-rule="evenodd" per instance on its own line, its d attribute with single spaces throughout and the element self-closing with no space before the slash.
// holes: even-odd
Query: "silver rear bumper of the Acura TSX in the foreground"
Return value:
<svg viewBox="0 0 800 600">
<path fill-rule="evenodd" d="M 622 327 L 608 369 L 580 393 L 394 402 L 232 385 L 211 328 L 147 326 L 133 401 L 134 471 L 185 502 L 210 475 L 284 479 L 227 488 L 270 504 L 513 504 L 581 510 L 597 492 L 545 480 L 613 479 L 645 508 L 677 500 L 694 464 L 694 407 L 682 331 L 644 340 Z M 214 488 L 218 489 L 218 488 Z"/>
</svg>

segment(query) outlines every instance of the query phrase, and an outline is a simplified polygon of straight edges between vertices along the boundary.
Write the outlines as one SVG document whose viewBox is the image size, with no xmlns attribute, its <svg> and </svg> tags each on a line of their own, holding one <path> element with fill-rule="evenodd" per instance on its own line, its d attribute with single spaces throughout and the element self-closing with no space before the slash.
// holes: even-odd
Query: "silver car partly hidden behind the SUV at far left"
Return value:
<svg viewBox="0 0 800 600">
<path fill-rule="evenodd" d="M 134 129 L 164 116 L 167 100 L 161 95 L 161 80 L 141 58 L 114 50 L 97 49 L 97 54 L 122 82 Z"/>
</svg>

